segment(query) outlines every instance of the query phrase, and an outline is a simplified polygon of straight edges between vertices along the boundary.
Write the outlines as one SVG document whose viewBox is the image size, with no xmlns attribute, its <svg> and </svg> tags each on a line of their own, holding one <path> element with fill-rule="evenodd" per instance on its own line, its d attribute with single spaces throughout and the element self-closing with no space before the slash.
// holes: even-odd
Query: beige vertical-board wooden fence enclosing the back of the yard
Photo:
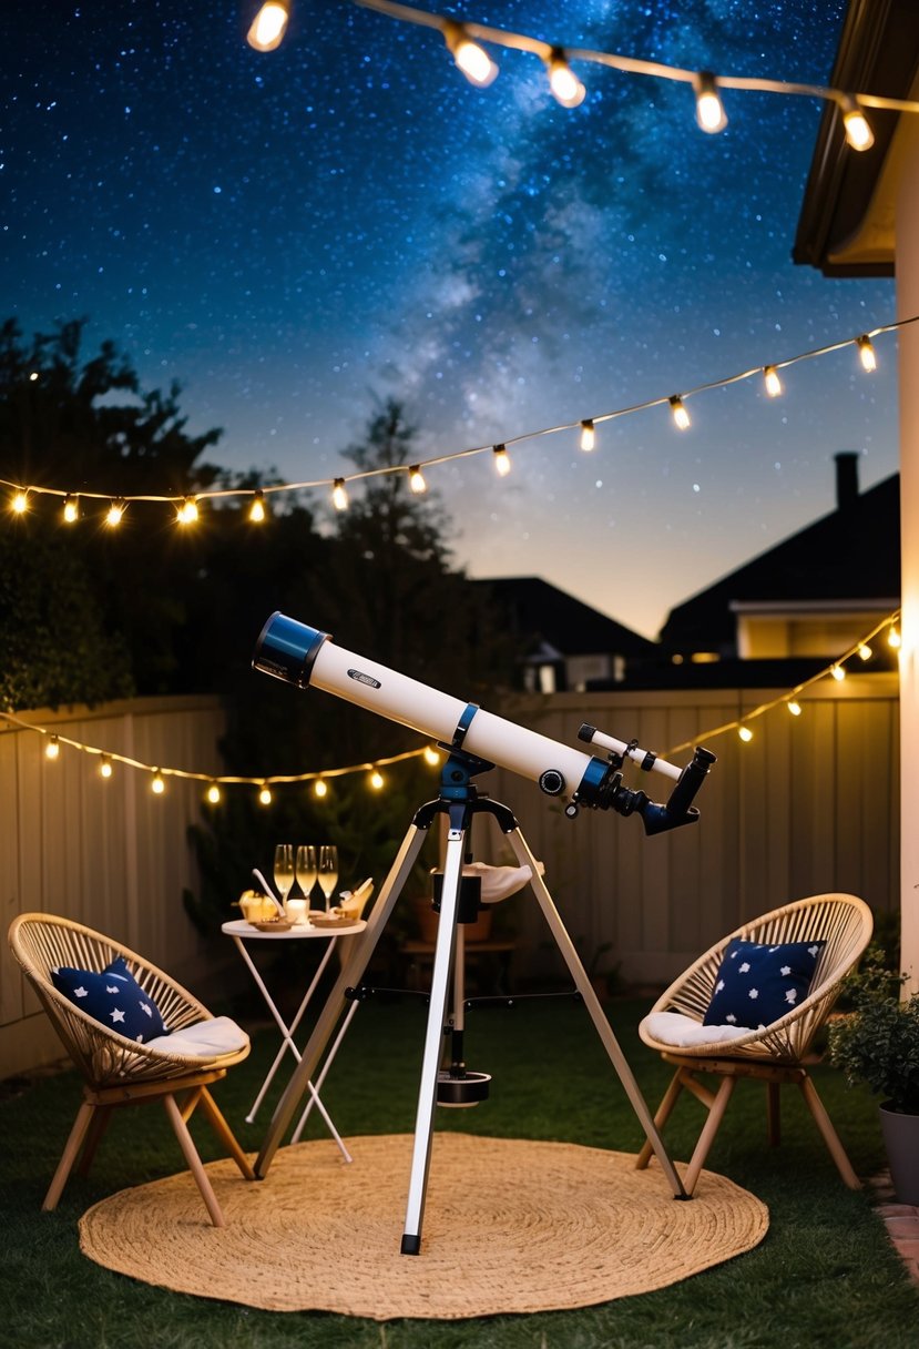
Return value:
<svg viewBox="0 0 919 1349">
<path fill-rule="evenodd" d="M 577 745 L 578 727 L 589 722 L 667 757 L 682 742 L 705 745 L 707 730 L 771 696 L 722 689 L 528 695 L 490 710 L 563 745 Z M 823 680 L 803 706 L 800 718 L 779 707 L 757 719 L 749 745 L 733 731 L 713 738 L 718 762 L 697 799 L 699 822 L 656 838 L 644 836 L 637 816 L 582 811 L 566 819 L 558 801 L 505 770 L 480 780 L 512 808 L 546 863 L 550 892 L 585 963 L 619 965 L 632 983 L 663 985 L 738 923 L 787 900 L 849 890 L 879 911 L 897 911 L 896 676 Z M 214 699 L 140 699 L 28 720 L 144 764 L 220 772 L 224 714 Z M 395 730 L 393 745 L 404 745 Z M 65 749 L 49 762 L 42 750 L 32 731 L 0 731 L 5 925 L 28 909 L 75 917 L 197 986 L 203 948 L 181 896 L 197 884 L 186 830 L 199 817 L 201 784 L 171 778 L 164 796 L 154 797 L 143 773 L 116 766 L 104 782 L 89 755 Z M 686 749 L 674 759 L 690 755 Z M 639 770 L 627 772 L 625 781 L 658 801 L 672 786 L 662 774 Z M 481 859 L 511 861 L 493 824 L 477 826 L 473 842 Z M 240 878 L 240 889 L 247 881 Z M 500 921 L 515 935 L 515 975 L 561 973 L 528 890 L 507 901 Z M 58 1054 L 3 943 L 0 1077 Z"/>
</svg>

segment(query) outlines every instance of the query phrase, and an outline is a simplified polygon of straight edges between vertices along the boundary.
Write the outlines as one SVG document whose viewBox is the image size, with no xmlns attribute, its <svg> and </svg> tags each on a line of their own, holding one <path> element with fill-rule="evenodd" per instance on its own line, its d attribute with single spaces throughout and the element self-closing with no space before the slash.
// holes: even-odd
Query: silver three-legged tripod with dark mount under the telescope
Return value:
<svg viewBox="0 0 919 1349">
<path fill-rule="evenodd" d="M 446 747 L 446 746 L 445 746 Z M 531 885 L 555 943 L 574 979 L 575 987 L 590 1014 L 597 1035 L 616 1070 L 632 1109 L 644 1129 L 645 1137 L 660 1163 L 668 1184 L 678 1199 L 689 1198 L 682 1182 L 674 1170 L 660 1135 L 651 1117 L 648 1106 L 641 1095 L 637 1082 L 629 1068 L 625 1056 L 619 1045 L 613 1029 L 606 1020 L 600 1000 L 593 990 L 590 979 L 581 963 L 574 944 L 562 923 L 558 909 L 552 902 L 548 889 L 539 874 L 536 861 L 530 851 L 513 813 L 507 805 L 492 801 L 486 796 L 480 796 L 472 781 L 473 776 L 493 768 L 485 759 L 480 759 L 458 747 L 450 749 L 443 772 L 441 774 L 441 795 L 434 801 L 429 801 L 416 813 L 402 842 L 399 853 L 389 869 L 376 905 L 368 919 L 367 928 L 350 943 L 350 952 L 344 962 L 341 974 L 331 989 L 326 1004 L 319 1013 L 310 1040 L 303 1050 L 303 1056 L 296 1066 L 287 1089 L 278 1102 L 271 1120 L 268 1133 L 255 1164 L 259 1179 L 268 1174 L 272 1157 L 280 1145 L 280 1140 L 291 1122 L 302 1097 L 309 1090 L 310 1079 L 317 1068 L 326 1044 L 334 1033 L 336 1025 L 345 1004 L 360 997 L 360 981 L 367 969 L 376 944 L 383 934 L 392 908 L 406 884 L 415 859 L 424 843 L 427 830 L 434 819 L 446 813 L 447 840 L 443 863 L 443 885 L 441 890 L 441 917 L 438 921 L 437 943 L 434 947 L 434 967 L 431 974 L 431 994 L 427 1014 L 427 1029 L 424 1035 L 424 1052 L 422 1058 L 422 1075 L 418 1091 L 418 1110 L 415 1116 L 415 1141 L 408 1180 L 408 1199 L 406 1205 L 406 1224 L 402 1237 L 402 1255 L 418 1255 L 420 1252 L 422 1221 L 424 1215 L 424 1199 L 427 1194 L 427 1179 L 431 1161 L 431 1137 L 434 1132 L 434 1108 L 438 1097 L 438 1077 L 443 1044 L 443 1024 L 450 993 L 450 973 L 453 966 L 457 942 L 457 913 L 459 907 L 459 889 L 462 881 L 462 863 L 466 844 L 466 835 L 472 827 L 472 820 L 477 813 L 488 812 L 508 836 L 511 847 L 521 866 L 530 867 Z"/>
</svg>

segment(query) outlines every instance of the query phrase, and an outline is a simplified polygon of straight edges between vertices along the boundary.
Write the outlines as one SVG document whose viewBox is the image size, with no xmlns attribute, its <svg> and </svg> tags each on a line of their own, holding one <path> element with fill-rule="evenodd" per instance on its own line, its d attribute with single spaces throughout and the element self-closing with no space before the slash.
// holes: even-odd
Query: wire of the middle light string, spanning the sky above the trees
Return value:
<svg viewBox="0 0 919 1349">
<path fill-rule="evenodd" d="M 354 3 L 357 3 L 357 0 L 354 0 Z M 543 436 L 555 436 L 559 432 L 565 430 L 577 430 L 579 428 L 583 428 L 586 424 L 598 426 L 602 422 L 614 421 L 621 417 L 631 417 L 635 413 L 645 411 L 651 407 L 670 406 L 671 409 L 674 409 L 675 403 L 685 405 L 687 399 L 694 398 L 698 394 L 710 393 L 714 389 L 726 389 L 730 384 L 738 384 L 744 380 L 753 379 L 756 376 L 763 378 L 764 372 L 769 370 L 772 371 L 788 370 L 791 366 L 796 366 L 803 360 L 814 360 L 819 356 L 827 356 L 833 352 L 842 351 L 846 347 L 856 347 L 858 352 L 862 355 L 862 363 L 864 363 L 865 344 L 868 345 L 868 349 L 872 351 L 873 355 L 873 348 L 870 347 L 872 339 L 880 337 L 885 333 L 897 332 L 899 329 L 907 328 L 910 326 L 910 324 L 915 322 L 919 322 L 919 314 L 912 314 L 912 317 L 910 318 L 900 318 L 896 322 L 881 324 L 877 328 L 865 329 L 857 337 L 844 337 L 839 341 L 830 343 L 826 347 L 814 347 L 810 351 L 798 352 L 795 356 L 786 356 L 782 360 L 764 362 L 761 366 L 752 366 L 749 370 L 737 371 L 733 375 L 725 375 L 721 379 L 713 379 L 709 380 L 707 383 L 695 384 L 691 389 L 685 389 L 679 394 L 663 394 L 660 397 L 648 398 L 644 402 L 631 403 L 627 407 L 617 407 L 612 411 L 596 413 L 592 417 L 579 417 L 575 421 L 570 422 L 559 422 L 557 426 L 543 426 L 542 429 L 538 430 L 520 432 L 516 436 L 505 437 L 499 447 L 496 447 L 493 442 L 489 442 L 488 445 L 474 445 L 466 449 L 454 451 L 453 453 L 449 455 L 435 455 L 431 456 L 430 459 L 419 459 L 415 460 L 412 464 L 385 464 L 379 468 L 365 468 L 353 473 L 340 473 L 336 475 L 334 478 L 319 478 L 299 483 L 275 483 L 256 488 L 252 487 L 205 488 L 202 491 L 189 491 L 178 494 L 170 492 L 170 494 L 129 495 L 125 492 L 84 491 L 82 488 L 77 487 L 65 490 L 61 487 L 22 484 L 12 482 L 11 479 L 7 478 L 0 478 L 0 486 L 12 490 L 13 492 L 12 509 L 19 511 L 27 509 L 27 499 L 30 495 L 58 496 L 62 498 L 65 503 L 90 499 L 90 500 L 105 500 L 110 502 L 113 506 L 120 505 L 121 507 L 124 507 L 129 502 L 160 502 L 181 509 L 187 506 L 189 503 L 199 503 L 209 499 L 230 498 L 230 496 L 236 498 L 245 496 L 245 498 L 252 498 L 255 502 L 261 502 L 264 498 L 274 494 L 299 492 L 319 487 L 337 488 L 340 484 L 341 487 L 345 487 L 349 483 L 357 483 L 371 478 L 389 476 L 392 473 L 402 473 L 404 476 L 411 478 L 412 473 L 419 473 L 424 468 L 431 468 L 439 464 L 450 464 L 454 463 L 455 460 L 469 459 L 474 455 L 493 453 L 496 448 L 507 448 L 508 445 L 521 445 L 524 441 L 539 440 Z M 344 502 L 344 507 L 346 509 L 346 498 Z M 191 522 L 190 519 L 186 521 L 186 523 L 190 522 Z"/>
</svg>

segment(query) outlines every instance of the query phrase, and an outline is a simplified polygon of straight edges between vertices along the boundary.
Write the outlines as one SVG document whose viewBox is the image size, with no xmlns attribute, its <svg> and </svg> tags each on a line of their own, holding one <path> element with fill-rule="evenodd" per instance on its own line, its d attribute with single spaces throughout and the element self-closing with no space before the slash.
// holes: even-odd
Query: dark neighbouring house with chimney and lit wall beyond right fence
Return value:
<svg viewBox="0 0 919 1349">
<path fill-rule="evenodd" d="M 837 507 L 670 611 L 660 631 L 675 665 L 752 662 L 807 672 L 858 641 L 900 595 L 900 479 L 858 491 L 858 456 L 835 456 Z M 701 673 L 701 672 L 699 672 Z M 775 665 L 761 669 L 776 677 Z M 722 684 L 729 670 L 710 672 Z M 671 683 L 683 683 L 674 672 Z M 761 683 L 761 680 L 757 680 Z"/>
</svg>

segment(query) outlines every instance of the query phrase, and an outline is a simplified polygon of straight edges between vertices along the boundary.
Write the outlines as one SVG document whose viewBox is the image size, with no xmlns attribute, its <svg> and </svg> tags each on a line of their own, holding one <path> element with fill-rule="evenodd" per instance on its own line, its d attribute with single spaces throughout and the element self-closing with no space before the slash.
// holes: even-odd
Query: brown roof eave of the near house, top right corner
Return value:
<svg viewBox="0 0 919 1349">
<path fill-rule="evenodd" d="M 830 76 L 834 89 L 915 98 L 916 0 L 850 0 Z M 915 115 L 866 108 L 875 144 L 853 151 L 835 103 L 823 108 L 791 252 L 826 277 L 892 277 L 900 162 Z"/>
</svg>

